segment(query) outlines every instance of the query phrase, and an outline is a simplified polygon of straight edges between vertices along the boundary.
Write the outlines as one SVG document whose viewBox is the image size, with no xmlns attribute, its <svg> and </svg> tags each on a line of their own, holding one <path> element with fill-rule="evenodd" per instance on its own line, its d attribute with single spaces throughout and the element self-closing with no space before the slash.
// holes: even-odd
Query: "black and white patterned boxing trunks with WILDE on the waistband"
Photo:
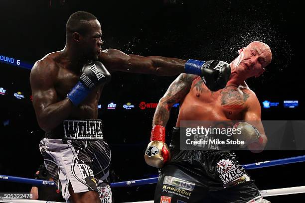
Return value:
<svg viewBox="0 0 305 203">
<path fill-rule="evenodd" d="M 67 201 L 75 193 L 98 191 L 107 182 L 111 152 L 101 120 L 65 120 L 39 144 L 48 173 Z"/>
</svg>

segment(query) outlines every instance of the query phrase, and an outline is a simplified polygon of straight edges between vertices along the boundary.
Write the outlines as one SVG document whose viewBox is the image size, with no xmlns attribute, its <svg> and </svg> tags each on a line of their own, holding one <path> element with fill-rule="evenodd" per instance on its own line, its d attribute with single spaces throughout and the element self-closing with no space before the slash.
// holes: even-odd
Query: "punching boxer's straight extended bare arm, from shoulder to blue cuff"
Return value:
<svg viewBox="0 0 305 203">
<path fill-rule="evenodd" d="M 110 72 L 123 71 L 158 76 L 175 76 L 184 73 L 184 60 L 160 56 L 127 55 L 117 49 L 106 49 L 99 60 Z"/>
</svg>

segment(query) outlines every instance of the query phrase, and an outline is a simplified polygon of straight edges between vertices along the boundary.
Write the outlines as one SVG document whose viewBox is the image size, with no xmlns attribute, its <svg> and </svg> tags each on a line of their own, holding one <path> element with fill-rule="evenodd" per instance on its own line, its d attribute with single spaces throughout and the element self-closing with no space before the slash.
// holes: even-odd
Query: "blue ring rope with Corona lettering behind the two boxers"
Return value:
<svg viewBox="0 0 305 203">
<path fill-rule="evenodd" d="M 292 164 L 292 163 L 298 163 L 298 162 L 304 162 L 304 161 L 305 161 L 305 155 L 297 156 L 297 157 L 290 157 L 290 158 L 285 158 L 285 159 L 257 162 L 257 163 L 253 163 L 253 164 L 246 164 L 246 165 L 242 165 L 242 167 L 244 167 L 245 169 L 258 169 L 258 168 Z M 42 181 L 42 180 L 36 180 L 36 179 L 20 178 L 20 177 L 4 176 L 4 175 L 0 175 L 0 181 L 26 183 L 26 184 L 36 185 L 36 186 L 41 186 L 41 185 L 55 186 L 55 183 L 52 181 Z M 153 184 L 153 183 L 156 183 L 157 181 L 158 181 L 158 178 L 149 178 L 149 179 L 111 183 L 110 186 L 113 188 L 127 187 L 127 186 L 140 186 L 140 185 Z"/>
</svg>

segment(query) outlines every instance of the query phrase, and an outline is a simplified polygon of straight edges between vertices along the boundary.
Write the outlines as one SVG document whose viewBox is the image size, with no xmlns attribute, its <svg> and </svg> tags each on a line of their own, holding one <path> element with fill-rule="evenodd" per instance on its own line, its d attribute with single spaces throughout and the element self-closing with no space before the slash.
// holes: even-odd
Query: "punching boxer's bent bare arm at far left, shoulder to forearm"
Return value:
<svg viewBox="0 0 305 203">
<path fill-rule="evenodd" d="M 67 118 L 73 104 L 69 99 L 58 102 L 54 82 L 58 68 L 51 59 L 37 61 L 30 74 L 32 102 L 41 129 L 51 131 Z"/>
</svg>

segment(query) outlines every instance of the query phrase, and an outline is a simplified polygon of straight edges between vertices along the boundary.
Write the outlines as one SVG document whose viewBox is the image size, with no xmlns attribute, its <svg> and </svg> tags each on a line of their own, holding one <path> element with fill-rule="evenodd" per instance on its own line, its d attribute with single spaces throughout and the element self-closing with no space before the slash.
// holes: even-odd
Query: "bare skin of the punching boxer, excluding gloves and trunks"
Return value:
<svg viewBox="0 0 305 203">
<path fill-rule="evenodd" d="M 173 76 L 184 72 L 184 60 L 127 55 L 116 49 L 102 50 L 102 30 L 99 21 L 81 20 L 79 24 L 75 25 L 73 21 L 67 23 L 64 49 L 47 54 L 37 61 L 31 70 L 33 106 L 38 124 L 45 132 L 61 128 L 64 119 L 97 119 L 97 105 L 104 84 L 96 86 L 77 106 L 67 98 L 67 94 L 80 78 L 80 70 L 89 60 L 102 62 L 110 73 L 123 71 Z M 82 32 L 75 31 L 75 27 Z M 71 183 L 69 193 L 69 201 L 72 203 L 101 202 L 96 191 L 74 193 Z"/>
</svg>

